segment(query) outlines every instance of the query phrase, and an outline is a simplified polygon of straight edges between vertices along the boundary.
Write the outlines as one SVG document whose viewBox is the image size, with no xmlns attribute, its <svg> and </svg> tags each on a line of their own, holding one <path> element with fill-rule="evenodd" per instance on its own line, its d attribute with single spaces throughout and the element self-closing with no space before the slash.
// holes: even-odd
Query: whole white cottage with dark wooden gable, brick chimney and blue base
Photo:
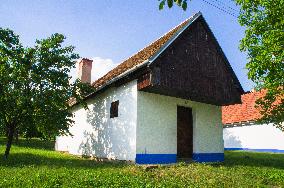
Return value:
<svg viewBox="0 0 284 188">
<path fill-rule="evenodd" d="M 243 89 L 201 13 L 92 85 L 89 110 L 74 104 L 73 137 L 57 137 L 56 150 L 138 164 L 224 160 L 220 106 L 240 103 Z"/>
</svg>

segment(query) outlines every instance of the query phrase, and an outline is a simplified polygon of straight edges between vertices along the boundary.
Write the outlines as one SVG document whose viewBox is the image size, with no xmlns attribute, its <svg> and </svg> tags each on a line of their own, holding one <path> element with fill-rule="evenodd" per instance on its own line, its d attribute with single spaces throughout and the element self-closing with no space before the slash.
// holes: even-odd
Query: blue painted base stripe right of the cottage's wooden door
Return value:
<svg viewBox="0 0 284 188">
<path fill-rule="evenodd" d="M 224 153 L 194 153 L 192 160 L 197 162 L 222 162 Z"/>
</svg>

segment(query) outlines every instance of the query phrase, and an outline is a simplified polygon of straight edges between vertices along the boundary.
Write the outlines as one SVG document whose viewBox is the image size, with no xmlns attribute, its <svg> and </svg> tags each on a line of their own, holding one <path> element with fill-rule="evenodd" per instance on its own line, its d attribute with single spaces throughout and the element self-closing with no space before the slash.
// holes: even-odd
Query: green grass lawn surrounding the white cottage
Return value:
<svg viewBox="0 0 284 188">
<path fill-rule="evenodd" d="M 5 140 L 0 138 L 0 153 Z M 53 151 L 52 142 L 20 140 L 0 158 L 0 187 L 284 187 L 284 155 L 226 152 L 224 163 L 179 163 L 145 170 Z"/>
</svg>

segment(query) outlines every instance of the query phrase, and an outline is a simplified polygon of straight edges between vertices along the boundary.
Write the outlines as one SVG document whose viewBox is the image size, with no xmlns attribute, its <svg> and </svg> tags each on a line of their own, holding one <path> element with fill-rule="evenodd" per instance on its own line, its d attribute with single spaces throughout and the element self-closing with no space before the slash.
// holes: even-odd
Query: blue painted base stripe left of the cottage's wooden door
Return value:
<svg viewBox="0 0 284 188">
<path fill-rule="evenodd" d="M 177 162 L 176 154 L 136 154 L 137 164 L 169 164 Z"/>
</svg>

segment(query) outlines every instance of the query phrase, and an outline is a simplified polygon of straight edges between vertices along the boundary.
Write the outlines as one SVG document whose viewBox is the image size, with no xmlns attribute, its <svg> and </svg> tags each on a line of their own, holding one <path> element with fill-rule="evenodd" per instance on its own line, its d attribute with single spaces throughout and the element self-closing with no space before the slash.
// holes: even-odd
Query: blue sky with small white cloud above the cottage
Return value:
<svg viewBox="0 0 284 188">
<path fill-rule="evenodd" d="M 207 2 L 238 9 L 231 0 Z M 64 34 L 66 43 L 74 45 L 81 57 L 95 59 L 96 79 L 201 11 L 244 90 L 252 89 L 246 55 L 238 48 L 244 28 L 237 18 L 203 0 L 191 0 L 185 12 L 178 7 L 159 11 L 158 5 L 157 0 L 0 0 L 0 27 L 14 30 L 24 45 L 52 33 Z"/>
</svg>

